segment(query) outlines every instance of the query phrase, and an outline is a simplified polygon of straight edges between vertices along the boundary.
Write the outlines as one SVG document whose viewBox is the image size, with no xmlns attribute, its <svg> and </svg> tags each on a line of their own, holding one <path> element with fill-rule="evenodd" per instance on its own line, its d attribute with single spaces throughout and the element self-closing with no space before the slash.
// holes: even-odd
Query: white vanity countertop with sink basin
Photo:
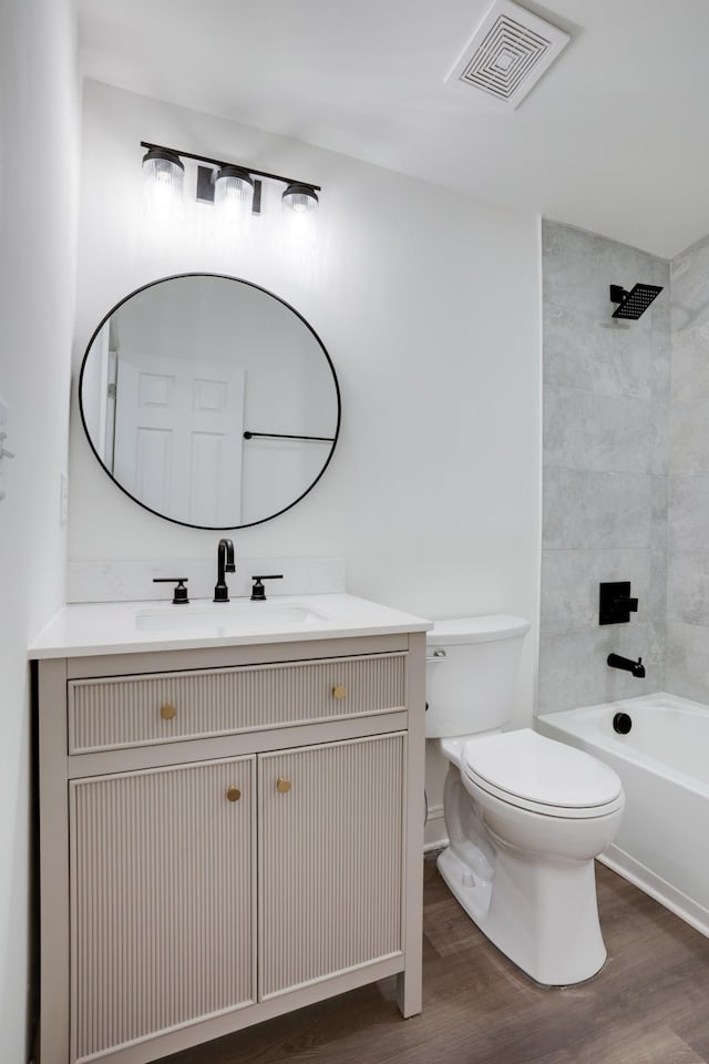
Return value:
<svg viewBox="0 0 709 1064">
<path fill-rule="evenodd" d="M 431 621 L 347 594 L 271 595 L 266 602 L 102 602 L 64 606 L 28 657 L 198 649 L 345 636 L 427 632 Z"/>
</svg>

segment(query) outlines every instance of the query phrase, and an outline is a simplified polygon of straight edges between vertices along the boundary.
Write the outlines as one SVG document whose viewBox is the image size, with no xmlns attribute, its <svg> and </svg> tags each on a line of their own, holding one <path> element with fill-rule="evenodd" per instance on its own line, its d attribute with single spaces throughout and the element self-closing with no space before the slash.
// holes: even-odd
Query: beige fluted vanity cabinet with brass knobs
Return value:
<svg viewBox="0 0 709 1064">
<path fill-rule="evenodd" d="M 39 1064 L 420 1011 L 423 638 L 38 663 Z"/>
</svg>

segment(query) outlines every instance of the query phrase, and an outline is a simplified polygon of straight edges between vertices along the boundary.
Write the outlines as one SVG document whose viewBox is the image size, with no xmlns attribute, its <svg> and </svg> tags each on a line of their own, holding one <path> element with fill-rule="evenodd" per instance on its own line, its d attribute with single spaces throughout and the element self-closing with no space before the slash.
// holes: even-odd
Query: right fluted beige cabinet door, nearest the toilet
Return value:
<svg viewBox="0 0 709 1064">
<path fill-rule="evenodd" d="M 259 999 L 401 953 L 404 743 L 259 757 Z"/>
</svg>

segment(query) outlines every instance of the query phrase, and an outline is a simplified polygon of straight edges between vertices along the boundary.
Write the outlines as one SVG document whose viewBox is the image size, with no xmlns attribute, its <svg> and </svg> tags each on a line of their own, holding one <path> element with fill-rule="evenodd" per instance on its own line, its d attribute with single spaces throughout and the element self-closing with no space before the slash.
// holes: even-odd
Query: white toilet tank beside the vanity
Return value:
<svg viewBox="0 0 709 1064">
<path fill-rule="evenodd" d="M 427 736 L 472 735 L 510 722 L 528 631 L 528 621 L 507 614 L 434 623 L 427 633 Z"/>
</svg>

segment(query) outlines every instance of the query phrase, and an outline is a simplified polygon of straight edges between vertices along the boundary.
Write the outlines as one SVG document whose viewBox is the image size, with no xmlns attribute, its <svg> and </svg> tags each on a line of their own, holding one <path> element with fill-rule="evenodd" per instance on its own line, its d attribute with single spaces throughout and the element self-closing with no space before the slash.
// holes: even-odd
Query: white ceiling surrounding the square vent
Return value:
<svg viewBox="0 0 709 1064">
<path fill-rule="evenodd" d="M 656 255 L 707 235 L 709 0 L 521 0 L 572 41 L 516 111 L 445 84 L 491 2 L 78 7 L 99 81 Z"/>
</svg>

